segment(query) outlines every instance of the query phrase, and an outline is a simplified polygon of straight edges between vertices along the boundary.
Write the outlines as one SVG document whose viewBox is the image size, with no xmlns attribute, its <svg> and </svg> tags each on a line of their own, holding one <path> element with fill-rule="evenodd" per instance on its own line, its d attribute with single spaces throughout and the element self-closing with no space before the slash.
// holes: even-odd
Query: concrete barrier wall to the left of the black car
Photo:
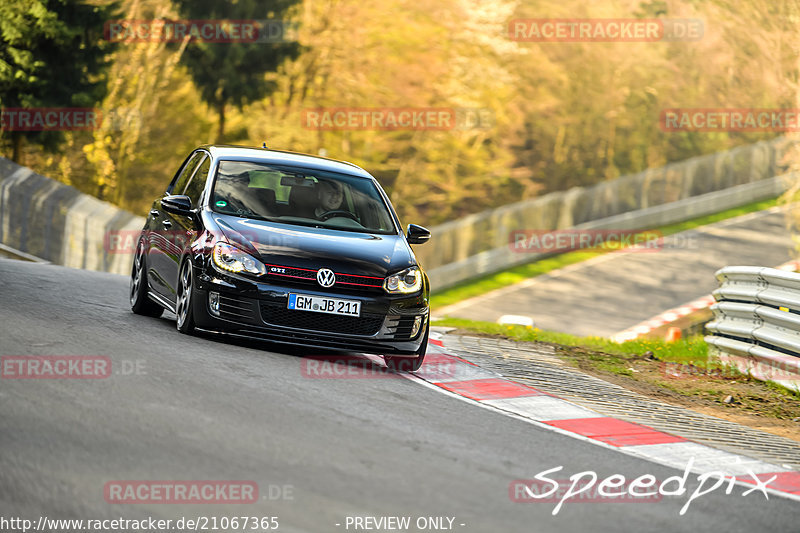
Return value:
<svg viewBox="0 0 800 533">
<path fill-rule="evenodd" d="M 132 254 L 110 249 L 108 237 L 142 226 L 142 217 L 0 158 L 0 243 L 60 265 L 130 274 Z"/>
</svg>

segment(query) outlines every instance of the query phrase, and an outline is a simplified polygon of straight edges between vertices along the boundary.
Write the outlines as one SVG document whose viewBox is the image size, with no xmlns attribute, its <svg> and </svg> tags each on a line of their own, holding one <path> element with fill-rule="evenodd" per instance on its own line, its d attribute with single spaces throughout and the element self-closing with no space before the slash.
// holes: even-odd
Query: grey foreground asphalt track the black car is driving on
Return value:
<svg viewBox="0 0 800 533">
<path fill-rule="evenodd" d="M 0 355 L 108 356 L 113 369 L 96 380 L 0 379 L 0 518 L 277 516 L 279 531 L 326 532 L 353 531 L 353 515 L 449 516 L 454 530 L 486 533 L 797 531 L 800 503 L 740 488 L 683 516 L 686 496 L 567 504 L 556 516 L 551 503 L 513 503 L 512 480 L 558 465 L 563 477 L 680 472 L 413 380 L 312 379 L 298 354 L 181 335 L 168 318 L 131 314 L 127 284 L 0 259 Z M 252 480 L 262 497 L 110 504 L 103 487 L 114 480 Z M 284 486 L 291 499 L 269 499 Z"/>
</svg>

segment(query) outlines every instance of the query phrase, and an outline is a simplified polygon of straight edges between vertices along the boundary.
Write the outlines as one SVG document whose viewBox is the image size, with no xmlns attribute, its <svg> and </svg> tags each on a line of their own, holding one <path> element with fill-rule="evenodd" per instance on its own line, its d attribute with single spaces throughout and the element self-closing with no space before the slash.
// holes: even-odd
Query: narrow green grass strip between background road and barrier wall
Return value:
<svg viewBox="0 0 800 533">
<path fill-rule="evenodd" d="M 721 220 L 746 215 L 756 211 L 762 211 L 764 209 L 774 207 L 777 205 L 777 202 L 777 199 L 754 202 L 734 209 L 728 209 L 727 211 L 722 211 L 720 213 L 715 213 L 713 215 L 687 220 L 686 222 L 681 222 L 679 224 L 671 224 L 662 228 L 655 228 L 654 230 L 660 231 L 663 235 L 672 235 L 674 233 L 687 231 L 699 226 L 713 224 L 714 222 L 719 222 Z M 520 265 L 508 270 L 503 270 L 495 274 L 490 274 L 476 280 L 456 285 L 442 292 L 435 292 L 431 295 L 431 307 L 434 310 L 445 307 L 467 298 L 486 294 L 487 292 L 495 289 L 520 283 L 528 278 L 540 276 L 559 268 L 564 268 L 575 263 L 586 261 L 587 259 L 603 255 L 609 251 L 612 250 L 579 250 L 574 252 L 566 252 L 525 265 Z"/>
</svg>

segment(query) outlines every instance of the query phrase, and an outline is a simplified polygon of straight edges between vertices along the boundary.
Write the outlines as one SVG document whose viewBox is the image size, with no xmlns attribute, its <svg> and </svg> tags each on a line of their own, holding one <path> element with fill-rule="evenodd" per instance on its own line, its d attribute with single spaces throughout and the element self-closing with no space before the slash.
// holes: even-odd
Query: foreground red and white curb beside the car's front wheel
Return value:
<svg viewBox="0 0 800 533">
<path fill-rule="evenodd" d="M 482 407 L 525 420 L 539 427 L 691 472 L 725 472 L 736 483 L 749 486 L 752 476 L 768 483 L 767 491 L 800 501 L 800 472 L 752 459 L 648 426 L 608 417 L 533 387 L 504 379 L 469 361 L 445 352 L 437 333 L 431 332 L 425 363 L 405 377 Z"/>
</svg>

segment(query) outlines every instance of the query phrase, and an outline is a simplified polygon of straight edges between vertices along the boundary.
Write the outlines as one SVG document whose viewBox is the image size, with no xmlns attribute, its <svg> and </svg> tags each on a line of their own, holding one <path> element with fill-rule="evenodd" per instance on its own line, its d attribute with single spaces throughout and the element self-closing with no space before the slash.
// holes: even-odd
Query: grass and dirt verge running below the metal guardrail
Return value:
<svg viewBox="0 0 800 533">
<path fill-rule="evenodd" d="M 437 320 L 433 325 L 546 343 L 562 360 L 606 381 L 800 441 L 800 394 L 710 360 L 708 346 L 699 335 L 676 342 L 637 339 L 618 344 L 602 337 L 458 318 Z"/>
</svg>

